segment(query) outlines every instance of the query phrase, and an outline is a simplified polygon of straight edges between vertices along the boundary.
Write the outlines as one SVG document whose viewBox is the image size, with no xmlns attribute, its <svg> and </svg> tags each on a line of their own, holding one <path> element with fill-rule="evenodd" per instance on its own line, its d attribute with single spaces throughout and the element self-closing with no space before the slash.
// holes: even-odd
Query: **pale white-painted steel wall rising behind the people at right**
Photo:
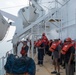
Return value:
<svg viewBox="0 0 76 75">
<path fill-rule="evenodd" d="M 53 19 L 59 18 L 61 19 L 61 22 L 59 24 L 47 22 L 46 25 L 50 26 L 48 31 L 48 37 L 50 39 L 52 38 L 58 38 L 60 37 L 62 40 L 64 40 L 67 37 L 71 37 L 72 39 L 76 39 L 76 0 L 67 0 L 69 1 L 68 3 L 64 3 L 62 8 L 58 10 L 58 13 L 55 13 L 54 16 L 52 16 Z M 59 8 L 59 7 L 58 7 Z M 53 11 L 53 10 L 52 10 Z M 52 12 L 50 11 L 50 12 Z M 57 14 L 57 16 L 56 16 Z M 58 27 L 56 27 L 58 26 Z M 54 30 L 54 31 L 53 31 Z M 56 31 L 58 30 L 58 32 Z M 50 32 L 52 31 L 52 32 Z M 56 33 L 56 36 L 54 35 Z"/>
</svg>

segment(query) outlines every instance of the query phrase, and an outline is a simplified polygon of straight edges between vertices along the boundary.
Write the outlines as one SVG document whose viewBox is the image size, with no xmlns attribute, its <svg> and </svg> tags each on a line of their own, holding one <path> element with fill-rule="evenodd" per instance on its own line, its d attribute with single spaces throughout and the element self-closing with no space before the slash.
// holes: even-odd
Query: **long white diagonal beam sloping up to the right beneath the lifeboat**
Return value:
<svg viewBox="0 0 76 75">
<path fill-rule="evenodd" d="M 69 1 L 68 1 L 69 2 Z M 67 3 L 68 3 L 67 2 Z M 64 4 L 65 5 L 65 4 Z M 63 6 L 64 6 L 63 5 Z M 63 7 L 62 6 L 62 7 Z M 61 8 L 62 8 L 61 7 Z M 54 13 L 56 13 L 57 11 L 59 11 L 61 8 L 59 8 L 59 9 L 57 9 L 56 11 L 54 11 L 54 12 L 52 12 L 52 13 L 47 13 L 47 14 L 45 14 L 44 16 L 42 16 L 41 18 L 39 18 L 39 19 L 37 19 L 34 23 L 32 23 L 32 24 L 30 24 L 28 27 L 26 27 L 25 29 L 23 29 L 22 30 L 22 32 L 20 31 L 19 33 L 17 33 L 17 37 L 20 37 L 21 35 L 23 35 L 27 30 L 29 30 L 29 29 L 31 29 L 33 26 L 35 26 L 35 25 L 37 25 L 38 23 L 40 23 L 41 21 L 43 21 L 43 20 L 45 20 L 46 18 L 51 18 L 52 17 L 52 15 L 54 14 Z"/>
</svg>

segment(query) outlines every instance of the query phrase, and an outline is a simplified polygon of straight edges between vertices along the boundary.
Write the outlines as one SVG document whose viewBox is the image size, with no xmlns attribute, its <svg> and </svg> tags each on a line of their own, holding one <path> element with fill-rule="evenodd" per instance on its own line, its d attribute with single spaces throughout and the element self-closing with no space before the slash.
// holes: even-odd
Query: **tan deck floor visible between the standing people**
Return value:
<svg viewBox="0 0 76 75">
<path fill-rule="evenodd" d="M 36 62 L 36 75 L 56 75 L 51 74 L 51 72 L 54 71 L 51 56 L 45 55 L 43 66 L 37 64 L 37 59 L 35 59 L 35 62 Z M 61 66 L 60 66 L 60 75 L 66 75 L 65 69 L 63 69 L 63 67 Z"/>
</svg>

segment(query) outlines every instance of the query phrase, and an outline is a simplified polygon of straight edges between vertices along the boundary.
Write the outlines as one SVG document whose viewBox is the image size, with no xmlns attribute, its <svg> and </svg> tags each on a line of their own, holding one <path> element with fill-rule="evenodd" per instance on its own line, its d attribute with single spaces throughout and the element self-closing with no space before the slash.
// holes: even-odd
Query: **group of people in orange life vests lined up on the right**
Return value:
<svg viewBox="0 0 76 75">
<path fill-rule="evenodd" d="M 45 53 L 53 57 L 54 71 L 51 74 L 60 75 L 60 65 L 65 68 L 66 75 L 74 75 L 75 70 L 75 47 L 71 38 L 66 38 L 64 42 L 60 39 L 48 42 L 45 34 L 42 35 L 35 46 L 38 49 L 38 65 L 43 65 Z"/>
</svg>

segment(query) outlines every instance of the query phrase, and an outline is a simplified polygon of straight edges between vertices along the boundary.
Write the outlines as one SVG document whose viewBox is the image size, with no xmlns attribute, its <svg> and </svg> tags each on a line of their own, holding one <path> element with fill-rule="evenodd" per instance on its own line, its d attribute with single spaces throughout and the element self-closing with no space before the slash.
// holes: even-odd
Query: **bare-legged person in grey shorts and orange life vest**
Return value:
<svg viewBox="0 0 76 75">
<path fill-rule="evenodd" d="M 60 46 L 59 40 L 55 39 L 50 47 L 50 51 L 53 52 L 53 62 L 54 62 L 54 71 L 51 72 L 51 74 L 60 75 L 60 66 L 59 66 L 60 50 L 61 50 L 61 46 Z M 57 69 L 58 69 L 58 72 L 57 72 Z"/>
</svg>

